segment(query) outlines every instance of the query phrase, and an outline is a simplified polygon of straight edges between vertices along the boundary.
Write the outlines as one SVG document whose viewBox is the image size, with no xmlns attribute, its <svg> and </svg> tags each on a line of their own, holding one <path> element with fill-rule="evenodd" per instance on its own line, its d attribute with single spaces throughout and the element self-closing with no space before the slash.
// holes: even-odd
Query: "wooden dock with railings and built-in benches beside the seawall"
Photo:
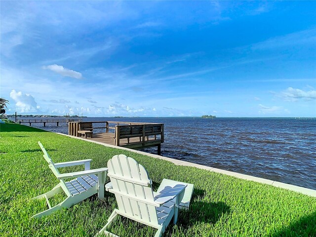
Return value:
<svg viewBox="0 0 316 237">
<path fill-rule="evenodd" d="M 93 131 L 93 129 L 99 128 L 104 129 L 105 132 L 93 133 L 91 137 L 86 136 L 86 139 L 135 150 L 157 147 L 158 155 L 161 153 L 161 143 L 164 142 L 163 123 L 119 121 L 69 122 L 68 134 L 80 137 L 81 132 L 79 128 L 84 127 L 82 124 L 87 125 L 88 123 L 89 126 L 85 127 L 90 127 L 90 130 Z M 92 124 L 94 125 L 92 126 Z M 98 126 L 95 124 L 98 124 Z"/>
</svg>

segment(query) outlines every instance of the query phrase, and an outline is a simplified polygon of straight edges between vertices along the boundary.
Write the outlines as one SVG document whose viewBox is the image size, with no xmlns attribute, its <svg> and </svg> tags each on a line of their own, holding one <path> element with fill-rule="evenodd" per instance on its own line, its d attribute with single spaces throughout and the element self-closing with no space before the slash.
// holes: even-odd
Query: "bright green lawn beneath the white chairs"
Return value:
<svg viewBox="0 0 316 237">
<path fill-rule="evenodd" d="M 170 224 L 165 237 L 316 236 L 315 197 L 20 124 L 0 124 L 0 131 L 0 236 L 93 236 L 117 206 L 114 195 L 106 192 L 102 201 L 95 195 L 48 217 L 30 219 L 47 208 L 45 200 L 30 199 L 58 184 L 38 141 L 55 162 L 92 158 L 91 168 L 100 168 L 112 156 L 125 154 L 146 167 L 155 188 L 163 178 L 193 183 L 190 211 L 180 211 L 178 225 Z M 63 198 L 51 201 L 57 204 Z M 121 237 L 155 234 L 153 228 L 125 218 L 111 231 Z"/>
</svg>

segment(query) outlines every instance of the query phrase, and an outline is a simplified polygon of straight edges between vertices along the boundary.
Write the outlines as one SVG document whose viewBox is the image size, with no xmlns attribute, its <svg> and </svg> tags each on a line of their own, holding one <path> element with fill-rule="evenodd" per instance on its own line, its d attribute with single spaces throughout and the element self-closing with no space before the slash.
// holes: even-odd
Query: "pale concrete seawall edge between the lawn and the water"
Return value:
<svg viewBox="0 0 316 237">
<path fill-rule="evenodd" d="M 142 154 L 142 155 L 145 155 L 145 156 L 148 156 L 148 157 L 153 157 L 153 158 L 167 160 L 167 161 L 170 161 L 170 162 L 172 162 L 172 163 L 174 163 L 176 165 L 196 167 L 196 168 L 199 168 L 199 169 L 204 169 L 204 170 L 209 170 L 209 171 L 216 172 L 216 173 L 221 173 L 221 174 L 234 176 L 234 177 L 239 178 L 239 179 L 245 179 L 245 180 L 254 181 L 254 182 L 258 182 L 258 183 L 262 183 L 262 184 L 269 184 L 269 185 L 272 185 L 272 186 L 275 186 L 275 187 L 278 187 L 278 188 L 287 189 L 287 190 L 295 191 L 295 192 L 298 192 L 298 193 L 301 193 L 301 194 L 305 194 L 305 195 L 308 195 L 308 196 L 316 197 L 316 190 L 313 190 L 313 189 L 307 189 L 307 188 L 303 188 L 303 187 L 299 187 L 299 186 L 295 186 L 295 185 L 291 185 L 291 184 L 285 184 L 285 183 L 281 183 L 281 182 L 277 182 L 277 181 L 273 181 L 273 180 L 269 180 L 269 179 L 263 179 L 263 178 L 259 178 L 259 177 L 255 177 L 255 176 L 251 176 L 251 175 L 240 174 L 240 173 L 236 173 L 236 172 L 232 172 L 232 171 L 228 171 L 228 170 L 223 170 L 223 169 L 218 169 L 218 168 L 214 168 L 214 167 L 209 167 L 209 166 L 196 164 L 196 163 L 192 163 L 192 162 L 188 162 L 188 161 L 183 161 L 183 160 L 178 160 L 178 159 L 173 159 L 173 158 L 168 158 L 168 157 L 162 157 L 162 156 L 158 156 L 158 155 L 155 155 L 155 154 L 150 154 L 150 153 L 147 153 L 147 152 L 141 152 L 141 151 L 125 148 L 125 147 L 118 147 L 118 146 L 114 146 L 114 145 L 110 145 L 110 144 L 106 144 L 106 143 L 102 143 L 102 142 L 88 140 L 88 139 L 81 138 L 81 137 L 74 137 L 74 136 L 70 136 L 70 135 L 67 135 L 67 134 L 59 133 L 59 132 L 56 132 L 56 134 L 60 134 L 60 135 L 63 135 L 63 136 L 79 139 L 79 140 L 82 140 L 82 141 L 96 143 L 96 144 L 99 144 L 99 145 L 102 145 L 102 146 L 105 146 L 105 147 L 111 147 L 111 148 L 126 150 L 126 151 L 130 151 L 130 152 Z"/>
</svg>

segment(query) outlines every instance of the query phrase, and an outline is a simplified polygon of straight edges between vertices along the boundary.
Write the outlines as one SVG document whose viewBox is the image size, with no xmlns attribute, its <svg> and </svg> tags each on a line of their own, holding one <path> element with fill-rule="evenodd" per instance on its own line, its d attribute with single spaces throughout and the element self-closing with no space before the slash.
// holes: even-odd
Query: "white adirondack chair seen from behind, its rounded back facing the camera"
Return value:
<svg viewBox="0 0 316 237">
<path fill-rule="evenodd" d="M 107 231 L 112 221 L 118 215 L 125 216 L 134 221 L 158 229 L 155 237 L 160 237 L 173 217 L 177 223 L 179 204 L 184 197 L 188 185 L 174 181 L 154 193 L 152 181 L 147 170 L 133 158 L 125 155 L 114 156 L 108 161 L 108 176 L 111 183 L 106 185 L 106 190 L 115 194 L 118 209 L 115 209 L 108 219 L 108 223 L 99 231 L 99 234 L 114 236 Z M 159 189 L 158 189 L 159 190 Z"/>
</svg>

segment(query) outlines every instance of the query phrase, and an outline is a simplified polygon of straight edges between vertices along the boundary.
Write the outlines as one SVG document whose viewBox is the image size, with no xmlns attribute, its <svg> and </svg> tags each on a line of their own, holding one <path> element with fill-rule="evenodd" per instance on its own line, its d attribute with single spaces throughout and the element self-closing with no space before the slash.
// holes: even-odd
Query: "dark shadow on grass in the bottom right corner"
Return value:
<svg viewBox="0 0 316 237">
<path fill-rule="evenodd" d="M 315 237 L 316 236 L 316 211 L 310 215 L 300 218 L 296 222 L 290 224 L 290 226 L 285 226 L 271 237 L 292 237 L 292 236 L 306 236 Z"/>
</svg>

